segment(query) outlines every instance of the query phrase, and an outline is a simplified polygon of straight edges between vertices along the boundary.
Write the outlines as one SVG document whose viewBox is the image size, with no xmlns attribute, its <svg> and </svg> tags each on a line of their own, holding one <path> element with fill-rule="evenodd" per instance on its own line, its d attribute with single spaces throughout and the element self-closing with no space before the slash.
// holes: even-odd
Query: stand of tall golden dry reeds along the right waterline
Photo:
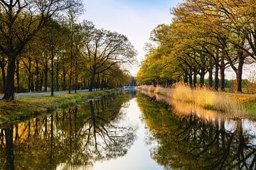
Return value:
<svg viewBox="0 0 256 170">
<path fill-rule="evenodd" d="M 161 86 L 139 86 L 138 89 L 151 91 L 156 94 L 163 94 L 164 96 L 177 101 L 192 103 L 193 107 L 201 106 L 210 110 L 221 111 L 226 115 L 235 118 L 245 116 L 246 114 L 245 108 L 229 96 L 224 96 L 204 88 L 191 89 L 190 86 L 176 84 L 174 89 Z"/>
</svg>

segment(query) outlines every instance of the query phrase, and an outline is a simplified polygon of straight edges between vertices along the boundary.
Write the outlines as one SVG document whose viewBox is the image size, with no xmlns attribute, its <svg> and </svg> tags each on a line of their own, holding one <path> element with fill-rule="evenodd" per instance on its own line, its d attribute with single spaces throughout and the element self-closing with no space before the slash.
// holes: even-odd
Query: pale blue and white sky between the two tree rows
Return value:
<svg viewBox="0 0 256 170">
<path fill-rule="evenodd" d="M 79 20 L 92 21 L 96 28 L 126 35 L 137 50 L 137 60 L 144 59 L 144 46 L 151 30 L 161 23 L 171 23 L 170 9 L 182 0 L 83 0 L 85 13 Z M 132 75 L 139 65 L 130 69 Z"/>
</svg>

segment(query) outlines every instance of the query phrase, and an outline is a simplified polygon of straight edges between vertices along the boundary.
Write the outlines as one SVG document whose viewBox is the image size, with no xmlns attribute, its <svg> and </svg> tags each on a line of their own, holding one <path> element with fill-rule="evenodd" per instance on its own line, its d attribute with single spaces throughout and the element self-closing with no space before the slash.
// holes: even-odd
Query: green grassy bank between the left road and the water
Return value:
<svg viewBox="0 0 256 170">
<path fill-rule="evenodd" d="M 78 94 L 55 94 L 55 96 L 33 96 L 16 98 L 15 101 L 0 100 L 0 123 L 22 120 L 34 115 L 66 108 L 82 103 L 90 98 L 109 94 L 115 89 L 105 91 L 87 91 Z"/>
</svg>

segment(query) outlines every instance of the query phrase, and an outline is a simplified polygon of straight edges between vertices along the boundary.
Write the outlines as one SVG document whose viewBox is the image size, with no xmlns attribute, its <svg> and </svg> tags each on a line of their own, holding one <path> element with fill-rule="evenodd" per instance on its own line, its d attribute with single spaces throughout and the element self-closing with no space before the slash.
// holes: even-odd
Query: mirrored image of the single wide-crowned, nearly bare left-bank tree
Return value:
<svg viewBox="0 0 256 170">
<path fill-rule="evenodd" d="M 134 140 L 134 130 L 130 126 L 118 125 L 109 120 L 106 112 L 100 111 L 100 101 L 90 101 L 91 116 L 87 119 L 86 151 L 90 151 L 95 159 L 122 157 L 127 153 Z M 94 147 L 94 148 L 93 148 Z M 90 150 L 93 149 L 93 150 Z"/>
</svg>

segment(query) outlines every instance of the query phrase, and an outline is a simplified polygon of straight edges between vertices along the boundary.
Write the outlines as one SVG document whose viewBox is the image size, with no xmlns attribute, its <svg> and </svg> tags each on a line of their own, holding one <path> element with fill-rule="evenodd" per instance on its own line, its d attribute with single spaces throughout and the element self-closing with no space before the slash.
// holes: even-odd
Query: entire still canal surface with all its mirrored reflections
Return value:
<svg viewBox="0 0 256 170">
<path fill-rule="evenodd" d="M 0 169 L 255 169 L 256 123 L 119 91 L 0 126 Z"/>
</svg>

